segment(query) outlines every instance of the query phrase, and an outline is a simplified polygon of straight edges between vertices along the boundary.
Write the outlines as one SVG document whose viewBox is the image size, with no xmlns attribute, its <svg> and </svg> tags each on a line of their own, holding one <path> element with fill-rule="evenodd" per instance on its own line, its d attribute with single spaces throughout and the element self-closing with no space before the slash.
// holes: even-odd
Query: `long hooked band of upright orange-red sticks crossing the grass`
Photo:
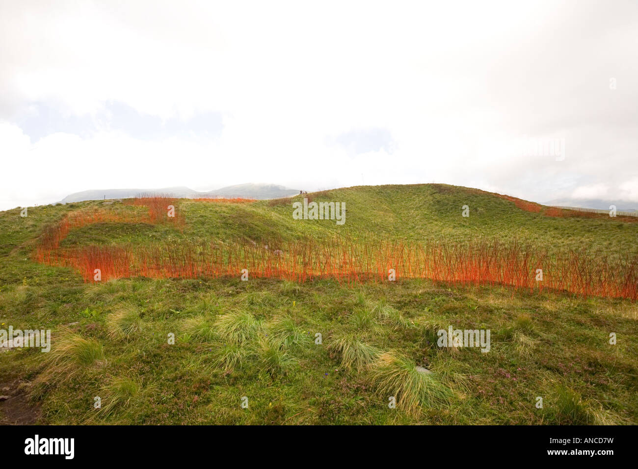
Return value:
<svg viewBox="0 0 638 469">
<path fill-rule="evenodd" d="M 38 262 L 77 269 L 86 281 L 94 270 L 101 279 L 131 276 L 150 278 L 216 278 L 239 276 L 248 269 L 250 278 L 308 281 L 334 278 L 356 285 L 362 281 L 388 281 L 388 269 L 397 278 L 429 278 L 463 285 L 508 285 L 534 290 L 566 290 L 582 296 L 598 295 L 638 299 L 638 255 L 613 259 L 592 255 L 584 249 L 538 249 L 516 239 L 501 242 L 478 239 L 454 242 L 445 239 L 423 243 L 400 240 L 301 239 L 274 240 L 263 244 L 180 241 L 142 246 L 83 246 L 60 248 L 71 229 L 91 223 L 117 221 L 160 223 L 166 198 L 136 199 L 149 212 L 136 214 L 107 211 L 73 212 L 43 230 L 34 252 Z M 161 221 L 164 223 L 164 221 Z M 183 223 L 168 221 L 167 223 Z M 542 269 L 542 281 L 536 280 Z"/>
</svg>

